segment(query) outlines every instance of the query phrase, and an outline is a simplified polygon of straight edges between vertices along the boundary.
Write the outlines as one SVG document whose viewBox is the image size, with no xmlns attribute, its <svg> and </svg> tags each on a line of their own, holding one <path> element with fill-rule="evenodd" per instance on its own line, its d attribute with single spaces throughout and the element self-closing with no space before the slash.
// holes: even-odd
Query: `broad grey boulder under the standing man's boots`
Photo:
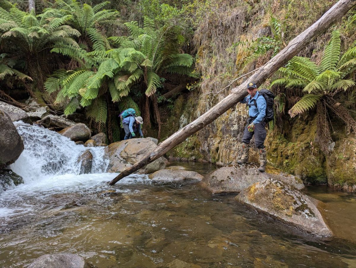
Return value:
<svg viewBox="0 0 356 268">
<path fill-rule="evenodd" d="M 272 178 L 293 185 L 298 190 L 304 188 L 302 180 L 279 169 L 267 166 L 266 172 L 261 173 L 257 168 L 255 164 L 222 167 L 207 174 L 201 186 L 213 194 L 233 194 L 240 193 L 256 182 Z"/>
</svg>

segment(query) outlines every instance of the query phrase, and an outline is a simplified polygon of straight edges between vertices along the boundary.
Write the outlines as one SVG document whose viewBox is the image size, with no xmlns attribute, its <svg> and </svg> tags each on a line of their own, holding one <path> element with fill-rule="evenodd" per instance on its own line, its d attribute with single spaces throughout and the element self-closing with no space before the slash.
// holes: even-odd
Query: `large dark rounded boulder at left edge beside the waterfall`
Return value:
<svg viewBox="0 0 356 268">
<path fill-rule="evenodd" d="M 23 151 L 23 141 L 10 117 L 0 110 L 0 168 L 14 163 Z"/>
</svg>

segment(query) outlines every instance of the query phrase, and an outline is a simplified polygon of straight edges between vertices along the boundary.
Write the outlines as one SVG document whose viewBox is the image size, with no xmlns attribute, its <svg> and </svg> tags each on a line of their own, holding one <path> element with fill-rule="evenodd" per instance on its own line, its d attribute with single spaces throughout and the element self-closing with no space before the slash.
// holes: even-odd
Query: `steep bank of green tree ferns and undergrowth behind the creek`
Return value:
<svg viewBox="0 0 356 268">
<path fill-rule="evenodd" d="M 262 66 L 334 2 L 39 0 L 29 11 L 27 1 L 2 0 L 0 99 L 23 107 L 26 98 L 16 94 L 25 90 L 27 98 L 57 114 L 85 114 L 110 142 L 122 138 L 117 116 L 133 107 L 143 117 L 145 134 L 162 140 L 226 96 L 232 80 Z M 295 174 L 298 163 L 316 163 L 297 174 L 312 182 L 325 182 L 328 158 L 350 165 L 346 171 L 330 169 L 343 174 L 339 184 L 355 171 L 350 154 L 333 152 L 335 142 L 349 137 L 346 148 L 353 148 L 355 30 L 353 9 L 263 85 L 277 96 L 267 139 L 271 163 Z M 177 88 L 184 97 L 164 97 Z M 244 108 L 235 112 L 246 114 Z M 235 132 L 223 131 L 232 129 L 225 126 L 229 116 L 172 156 L 231 163 L 237 153 L 226 143 Z M 203 148 L 208 137 L 213 138 Z M 278 147 L 286 152 L 274 153 Z M 306 148 L 311 156 L 296 158 Z"/>
</svg>

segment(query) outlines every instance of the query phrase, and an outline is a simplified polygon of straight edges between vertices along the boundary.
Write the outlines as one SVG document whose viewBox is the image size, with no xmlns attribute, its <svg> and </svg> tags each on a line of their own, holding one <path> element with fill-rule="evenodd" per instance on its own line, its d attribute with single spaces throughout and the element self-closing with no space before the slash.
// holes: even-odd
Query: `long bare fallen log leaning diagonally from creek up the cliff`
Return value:
<svg viewBox="0 0 356 268">
<path fill-rule="evenodd" d="M 286 64 L 291 58 L 293 58 L 301 49 L 312 42 L 313 39 L 322 33 L 324 33 L 331 25 L 341 20 L 342 16 L 346 14 L 353 6 L 356 5 L 356 0 L 340 0 L 334 6 L 332 6 L 319 20 L 317 20 L 312 26 L 307 28 L 300 35 L 295 37 L 288 45 L 282 49 L 276 56 L 263 65 L 256 73 L 246 80 L 241 85 L 233 88 L 231 93 L 221 100 L 218 104 L 212 107 L 205 114 L 198 117 L 196 120 L 183 127 L 172 136 L 168 137 L 163 142 L 159 143 L 153 152 L 147 153 L 141 161 L 135 163 L 130 168 L 123 170 L 117 175 L 110 185 L 114 185 L 120 179 L 130 175 L 141 167 L 155 161 L 157 158 L 163 156 L 174 146 L 185 141 L 185 139 L 195 132 L 199 131 L 204 126 L 213 122 L 216 118 L 236 105 L 246 95 L 247 83 L 253 81 L 257 86 L 260 86 L 265 80 L 276 72 L 280 67 Z"/>
</svg>

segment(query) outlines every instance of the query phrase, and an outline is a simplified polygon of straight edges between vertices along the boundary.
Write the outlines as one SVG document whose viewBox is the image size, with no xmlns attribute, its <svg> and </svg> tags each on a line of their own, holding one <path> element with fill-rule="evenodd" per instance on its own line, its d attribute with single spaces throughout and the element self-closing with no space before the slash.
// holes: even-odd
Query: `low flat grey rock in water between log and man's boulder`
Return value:
<svg viewBox="0 0 356 268">
<path fill-rule="evenodd" d="M 161 169 L 148 176 L 151 180 L 202 180 L 204 177 L 195 171 L 183 169 Z"/>
</svg>

